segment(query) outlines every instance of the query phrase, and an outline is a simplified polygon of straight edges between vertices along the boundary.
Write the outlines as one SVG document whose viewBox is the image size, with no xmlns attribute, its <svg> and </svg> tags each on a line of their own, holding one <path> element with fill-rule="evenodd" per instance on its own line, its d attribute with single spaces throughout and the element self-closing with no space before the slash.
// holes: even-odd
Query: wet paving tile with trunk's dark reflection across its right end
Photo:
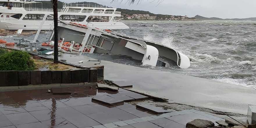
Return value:
<svg viewBox="0 0 256 128">
<path fill-rule="evenodd" d="M 31 111 L 29 113 L 39 121 L 61 118 L 61 116 L 56 113 L 56 110 L 47 109 L 47 110 L 40 110 L 40 111 Z"/>
</svg>

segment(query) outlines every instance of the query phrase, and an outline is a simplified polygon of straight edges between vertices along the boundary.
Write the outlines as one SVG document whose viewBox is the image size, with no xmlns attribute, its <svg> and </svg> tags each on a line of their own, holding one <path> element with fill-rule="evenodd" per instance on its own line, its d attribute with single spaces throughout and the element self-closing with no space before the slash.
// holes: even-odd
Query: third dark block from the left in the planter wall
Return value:
<svg viewBox="0 0 256 128">
<path fill-rule="evenodd" d="M 18 71 L 18 85 L 25 86 L 30 83 L 30 72 L 29 71 Z"/>
</svg>

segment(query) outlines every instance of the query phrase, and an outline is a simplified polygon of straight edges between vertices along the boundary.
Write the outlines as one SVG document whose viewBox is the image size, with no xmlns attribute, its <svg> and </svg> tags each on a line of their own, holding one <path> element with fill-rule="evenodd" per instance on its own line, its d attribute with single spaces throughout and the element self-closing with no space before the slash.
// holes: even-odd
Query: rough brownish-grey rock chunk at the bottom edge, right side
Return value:
<svg viewBox="0 0 256 128">
<path fill-rule="evenodd" d="M 195 119 L 186 124 L 186 128 L 208 128 L 214 127 L 214 123 L 209 120 Z"/>
</svg>

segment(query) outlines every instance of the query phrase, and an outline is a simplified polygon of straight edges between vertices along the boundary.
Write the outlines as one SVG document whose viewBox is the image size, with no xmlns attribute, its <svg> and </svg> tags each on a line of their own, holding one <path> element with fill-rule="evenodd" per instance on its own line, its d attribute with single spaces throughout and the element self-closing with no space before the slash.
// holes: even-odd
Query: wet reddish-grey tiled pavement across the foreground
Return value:
<svg viewBox="0 0 256 128">
<path fill-rule="evenodd" d="M 221 119 L 195 110 L 155 115 L 129 103 L 108 106 L 100 102 L 92 102 L 95 97 L 103 97 L 104 100 L 104 97 L 112 95 L 114 96 L 111 99 L 122 100 L 118 96 L 122 97 L 122 95 L 133 93 L 122 88 L 119 91 L 109 91 L 99 90 L 96 85 L 89 85 L 65 87 L 62 90 L 68 90 L 72 94 L 53 95 L 46 93 L 47 89 L 1 92 L 0 127 L 170 128 L 175 126 L 175 128 L 185 128 L 186 122 L 195 118 L 213 122 Z M 74 94 L 74 92 L 78 94 Z"/>
</svg>

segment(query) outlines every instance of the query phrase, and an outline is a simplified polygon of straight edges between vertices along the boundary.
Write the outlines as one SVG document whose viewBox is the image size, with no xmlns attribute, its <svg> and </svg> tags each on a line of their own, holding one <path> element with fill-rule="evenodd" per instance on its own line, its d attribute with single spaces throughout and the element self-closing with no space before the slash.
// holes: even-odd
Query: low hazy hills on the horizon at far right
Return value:
<svg viewBox="0 0 256 128">
<path fill-rule="evenodd" d="M 242 18 L 242 19 L 239 19 L 239 18 L 233 18 L 233 19 L 221 19 L 221 18 L 217 18 L 217 17 L 211 17 L 211 18 L 208 18 L 208 17 L 202 17 L 200 15 L 196 15 L 195 17 L 192 17 L 192 18 L 195 18 L 195 19 L 198 19 L 198 20 L 251 20 L 251 21 L 256 21 L 256 17 L 251 17 L 251 18 Z"/>
</svg>

